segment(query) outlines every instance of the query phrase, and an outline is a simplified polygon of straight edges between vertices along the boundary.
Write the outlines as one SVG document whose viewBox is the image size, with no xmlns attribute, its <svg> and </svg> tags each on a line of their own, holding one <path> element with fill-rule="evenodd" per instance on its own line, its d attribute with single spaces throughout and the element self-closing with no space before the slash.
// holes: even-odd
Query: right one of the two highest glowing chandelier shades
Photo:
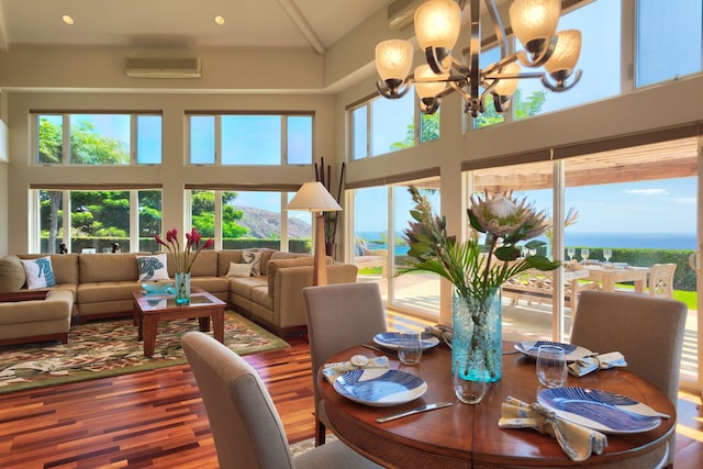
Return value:
<svg viewBox="0 0 703 469">
<path fill-rule="evenodd" d="M 510 5 L 510 25 L 523 45 L 554 35 L 559 24 L 560 0 L 515 0 Z"/>
</svg>

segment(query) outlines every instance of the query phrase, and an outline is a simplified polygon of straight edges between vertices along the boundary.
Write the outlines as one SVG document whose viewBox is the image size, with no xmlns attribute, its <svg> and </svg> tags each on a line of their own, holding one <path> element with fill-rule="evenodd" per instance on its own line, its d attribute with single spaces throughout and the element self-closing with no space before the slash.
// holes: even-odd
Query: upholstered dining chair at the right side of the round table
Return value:
<svg viewBox="0 0 703 469">
<path fill-rule="evenodd" d="M 620 351 L 627 369 L 662 391 L 676 407 L 688 306 L 643 294 L 583 291 L 571 327 L 571 344 L 601 354 Z M 669 440 L 667 465 L 673 464 Z"/>
</svg>

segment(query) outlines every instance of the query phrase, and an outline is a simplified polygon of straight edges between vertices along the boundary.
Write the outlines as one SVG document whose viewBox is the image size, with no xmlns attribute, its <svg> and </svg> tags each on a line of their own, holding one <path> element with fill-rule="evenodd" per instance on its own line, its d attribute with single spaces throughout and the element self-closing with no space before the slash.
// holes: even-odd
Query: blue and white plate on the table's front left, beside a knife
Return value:
<svg viewBox="0 0 703 469">
<path fill-rule="evenodd" d="M 376 407 L 404 404 L 427 391 L 422 378 L 387 368 L 348 371 L 334 380 L 333 386 L 345 398 Z"/>
</svg>

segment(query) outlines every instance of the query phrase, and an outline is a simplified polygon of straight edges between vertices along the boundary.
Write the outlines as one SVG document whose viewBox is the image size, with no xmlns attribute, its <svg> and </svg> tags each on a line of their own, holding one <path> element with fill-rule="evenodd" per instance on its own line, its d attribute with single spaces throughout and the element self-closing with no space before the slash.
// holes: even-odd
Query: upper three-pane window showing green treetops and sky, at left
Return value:
<svg viewBox="0 0 703 469">
<path fill-rule="evenodd" d="M 159 165 L 157 114 L 35 114 L 41 165 Z M 68 132 L 66 132 L 68 130 Z"/>
</svg>

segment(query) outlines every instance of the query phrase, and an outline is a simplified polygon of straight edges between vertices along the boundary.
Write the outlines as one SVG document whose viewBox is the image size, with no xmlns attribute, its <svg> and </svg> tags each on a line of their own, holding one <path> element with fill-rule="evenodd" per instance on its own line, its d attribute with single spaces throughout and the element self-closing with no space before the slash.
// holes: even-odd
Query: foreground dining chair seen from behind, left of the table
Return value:
<svg viewBox="0 0 703 469">
<path fill-rule="evenodd" d="M 293 458 L 266 386 L 242 357 L 208 334 L 181 339 L 222 469 L 380 468 L 339 440 Z"/>
</svg>

